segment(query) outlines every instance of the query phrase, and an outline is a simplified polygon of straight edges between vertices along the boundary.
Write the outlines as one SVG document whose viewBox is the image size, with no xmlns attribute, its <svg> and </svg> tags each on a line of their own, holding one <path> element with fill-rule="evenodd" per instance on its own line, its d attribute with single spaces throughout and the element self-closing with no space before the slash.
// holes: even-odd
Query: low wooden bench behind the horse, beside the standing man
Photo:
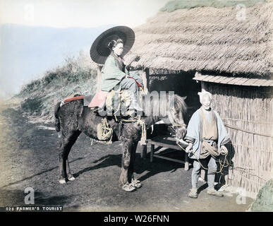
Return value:
<svg viewBox="0 0 273 226">
<path fill-rule="evenodd" d="M 156 138 L 152 138 L 152 139 L 147 139 L 146 140 L 146 144 L 147 145 L 151 145 L 150 147 L 150 162 L 153 161 L 154 157 L 159 157 L 162 158 L 164 160 L 170 160 L 173 162 L 179 162 L 184 164 L 184 169 L 188 170 L 189 168 L 189 157 L 188 157 L 188 153 L 185 152 L 185 161 L 183 160 L 176 160 L 174 158 L 171 157 L 165 157 L 159 154 L 154 154 L 154 145 L 157 145 L 159 147 L 164 147 L 164 148 L 171 148 L 174 150 L 182 150 L 177 144 L 176 144 L 176 138 L 174 137 L 170 137 L 170 136 L 157 136 Z M 182 146 L 183 147 L 183 146 Z M 186 147 L 183 147 L 186 148 Z M 182 150 L 184 151 L 184 150 Z"/>
</svg>

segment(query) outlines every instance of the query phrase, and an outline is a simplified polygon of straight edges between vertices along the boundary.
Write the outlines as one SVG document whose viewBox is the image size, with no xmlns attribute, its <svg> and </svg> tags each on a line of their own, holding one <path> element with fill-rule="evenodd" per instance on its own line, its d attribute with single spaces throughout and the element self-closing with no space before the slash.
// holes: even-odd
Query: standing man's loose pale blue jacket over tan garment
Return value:
<svg viewBox="0 0 273 226">
<path fill-rule="evenodd" d="M 209 155 L 205 151 L 207 148 L 217 153 L 222 145 L 230 141 L 219 114 L 211 109 L 210 118 L 207 118 L 203 111 L 202 107 L 200 107 L 190 118 L 187 134 L 184 138 L 184 140 L 193 143 L 192 152 L 195 155 L 189 153 L 189 157 L 193 159 L 207 157 Z"/>
</svg>

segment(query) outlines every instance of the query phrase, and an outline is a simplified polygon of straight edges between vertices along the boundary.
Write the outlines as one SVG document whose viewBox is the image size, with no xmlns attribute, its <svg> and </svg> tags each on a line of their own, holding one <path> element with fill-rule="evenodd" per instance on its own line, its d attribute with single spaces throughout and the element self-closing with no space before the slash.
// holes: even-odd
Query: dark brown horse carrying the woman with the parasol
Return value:
<svg viewBox="0 0 273 226">
<path fill-rule="evenodd" d="M 162 119 L 169 119 L 174 126 L 178 139 L 186 135 L 186 124 L 183 120 L 183 115 L 186 113 L 186 97 L 173 95 L 172 103 L 168 95 L 160 98 L 147 98 L 149 105 L 143 105 L 142 109 L 145 112 L 142 120 L 146 128 L 149 128 L 157 121 Z M 143 98 L 143 97 L 142 97 Z M 145 97 L 143 98 L 145 99 Z M 147 102 L 147 101 L 146 101 Z M 147 107 L 148 106 L 148 107 Z M 166 114 L 162 113 L 161 109 L 166 109 Z M 159 110 L 158 110 L 159 109 Z M 147 114 L 147 111 L 150 114 Z M 158 114 L 153 114 L 158 112 Z M 71 169 L 68 164 L 68 155 L 75 141 L 80 133 L 98 140 L 97 125 L 101 123 L 102 117 L 90 107 L 83 106 L 83 100 L 73 100 L 61 105 L 58 102 L 54 107 L 54 116 L 56 118 L 56 131 L 61 133 L 61 145 L 59 147 L 59 183 L 65 184 L 75 178 L 71 174 Z M 133 165 L 135 161 L 135 151 L 140 141 L 142 134 L 142 125 L 138 122 L 121 122 L 116 121 L 115 117 L 107 116 L 107 121 L 111 129 L 113 129 L 112 142 L 121 141 L 122 143 L 122 160 L 121 160 L 121 175 L 119 177 L 119 184 L 131 184 L 135 177 L 133 176 Z"/>
</svg>

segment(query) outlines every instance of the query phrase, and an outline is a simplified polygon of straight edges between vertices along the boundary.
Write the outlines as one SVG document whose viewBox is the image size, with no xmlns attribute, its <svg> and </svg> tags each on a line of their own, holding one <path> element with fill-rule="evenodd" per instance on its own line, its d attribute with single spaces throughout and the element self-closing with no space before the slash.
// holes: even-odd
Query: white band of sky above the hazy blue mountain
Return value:
<svg viewBox="0 0 273 226">
<path fill-rule="evenodd" d="M 0 23 L 66 27 L 135 27 L 169 0 L 0 0 Z"/>
</svg>

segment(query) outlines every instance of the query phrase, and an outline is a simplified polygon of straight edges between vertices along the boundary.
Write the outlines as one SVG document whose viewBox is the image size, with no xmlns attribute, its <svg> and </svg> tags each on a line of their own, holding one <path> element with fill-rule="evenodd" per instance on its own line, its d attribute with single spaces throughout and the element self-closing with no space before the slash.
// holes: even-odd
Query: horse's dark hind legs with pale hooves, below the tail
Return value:
<svg viewBox="0 0 273 226">
<path fill-rule="evenodd" d="M 66 177 L 72 178 L 72 174 L 68 165 L 69 152 L 80 135 L 80 131 L 72 131 L 68 135 L 63 136 L 61 139 L 61 147 L 59 148 L 59 182 L 60 184 L 66 183 Z M 68 173 L 66 172 L 66 166 L 68 165 Z M 73 180 L 73 179 L 72 179 Z"/>
</svg>

